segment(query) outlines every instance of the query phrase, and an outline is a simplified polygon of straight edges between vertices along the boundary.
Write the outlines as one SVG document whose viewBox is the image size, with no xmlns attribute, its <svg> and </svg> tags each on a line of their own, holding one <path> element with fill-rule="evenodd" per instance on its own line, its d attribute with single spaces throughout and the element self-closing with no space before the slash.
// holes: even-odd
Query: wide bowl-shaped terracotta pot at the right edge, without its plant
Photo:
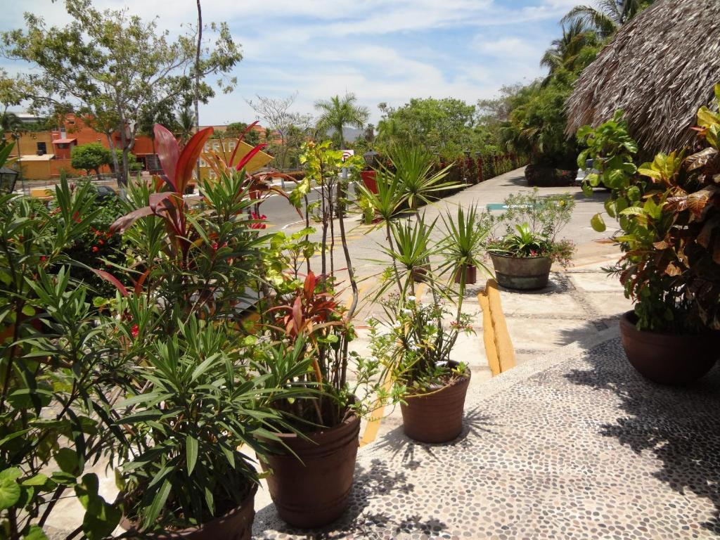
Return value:
<svg viewBox="0 0 720 540">
<path fill-rule="evenodd" d="M 720 357 L 720 333 L 670 334 L 638 330 L 634 312 L 620 319 L 620 336 L 630 364 L 646 379 L 673 386 L 693 382 Z"/>
</svg>

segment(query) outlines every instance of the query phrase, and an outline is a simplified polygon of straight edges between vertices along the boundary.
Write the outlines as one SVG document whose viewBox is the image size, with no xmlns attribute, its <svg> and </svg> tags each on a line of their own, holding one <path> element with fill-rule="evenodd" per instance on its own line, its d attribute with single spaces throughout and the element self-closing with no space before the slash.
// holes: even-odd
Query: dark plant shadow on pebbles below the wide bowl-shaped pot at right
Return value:
<svg viewBox="0 0 720 540">
<path fill-rule="evenodd" d="M 667 387 L 642 378 L 629 363 L 617 369 L 602 359 L 591 356 L 593 369 L 565 376 L 620 398 L 623 414 L 598 426 L 600 434 L 635 454 L 652 452 L 658 462 L 652 475 L 685 498 L 692 492 L 709 500 L 714 518 L 697 526 L 720 534 L 720 366 L 687 387 Z"/>
</svg>

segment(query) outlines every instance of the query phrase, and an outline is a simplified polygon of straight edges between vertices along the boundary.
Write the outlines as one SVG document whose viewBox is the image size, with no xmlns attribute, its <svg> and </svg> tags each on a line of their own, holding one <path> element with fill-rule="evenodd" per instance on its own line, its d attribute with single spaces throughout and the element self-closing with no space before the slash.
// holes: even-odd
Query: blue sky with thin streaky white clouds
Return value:
<svg viewBox="0 0 720 540">
<path fill-rule="evenodd" d="M 293 110 L 314 113 L 318 99 L 353 92 L 377 122 L 377 105 L 412 97 L 491 98 L 505 84 L 541 76 L 539 60 L 560 35 L 559 19 L 579 0 L 202 0 L 205 22 L 225 21 L 243 60 L 232 94 L 200 108 L 200 123 L 250 122 L 246 100 L 297 93 Z M 181 31 L 197 19 L 195 0 L 94 0 L 127 6 L 158 27 Z M 23 12 L 63 24 L 63 0 L 16 0 L 0 30 L 23 27 Z M 0 59 L 17 73 L 24 67 Z"/>
</svg>

